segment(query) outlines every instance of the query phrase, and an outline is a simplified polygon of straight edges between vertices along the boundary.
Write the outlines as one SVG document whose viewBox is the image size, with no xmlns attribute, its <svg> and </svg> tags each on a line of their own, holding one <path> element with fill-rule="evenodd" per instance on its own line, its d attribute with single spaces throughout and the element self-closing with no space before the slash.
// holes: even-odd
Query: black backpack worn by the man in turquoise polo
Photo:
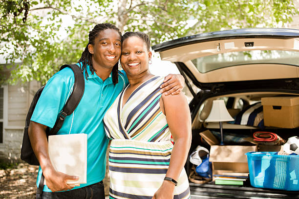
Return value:
<svg viewBox="0 0 299 199">
<path fill-rule="evenodd" d="M 50 135 L 56 135 L 59 129 L 62 127 L 64 123 L 64 119 L 66 116 L 69 116 L 73 113 L 73 111 L 76 109 L 77 105 L 79 104 L 83 94 L 84 94 L 84 88 L 85 88 L 85 81 L 83 72 L 80 69 L 80 67 L 76 64 L 65 64 L 61 66 L 60 71 L 66 67 L 70 67 L 75 75 L 75 82 L 74 82 L 74 88 L 72 93 L 70 94 L 68 100 L 66 101 L 64 108 L 60 114 L 60 116 L 57 118 L 55 125 L 49 130 L 49 127 L 46 129 L 46 135 L 47 138 Z M 41 87 L 36 94 L 33 97 L 33 100 L 31 102 L 30 108 L 27 113 L 26 121 L 25 121 L 25 128 L 24 128 L 24 135 L 23 135 L 23 141 L 22 141 L 22 147 L 21 147 L 21 159 L 26 161 L 29 164 L 32 165 L 40 165 L 38 159 L 36 158 L 33 149 L 31 147 L 31 143 L 28 136 L 28 127 L 30 124 L 30 119 L 33 114 L 34 108 L 42 94 L 43 87 Z"/>
</svg>

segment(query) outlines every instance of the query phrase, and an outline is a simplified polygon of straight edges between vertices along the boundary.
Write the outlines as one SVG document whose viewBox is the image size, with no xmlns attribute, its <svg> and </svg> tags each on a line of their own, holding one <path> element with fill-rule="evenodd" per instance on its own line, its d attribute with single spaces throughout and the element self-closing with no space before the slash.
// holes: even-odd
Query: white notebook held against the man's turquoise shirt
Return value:
<svg viewBox="0 0 299 199">
<path fill-rule="evenodd" d="M 79 177 L 78 180 L 68 180 L 67 183 L 70 186 L 86 183 L 87 135 L 82 133 L 49 136 L 48 144 L 49 156 L 54 169 Z"/>
</svg>

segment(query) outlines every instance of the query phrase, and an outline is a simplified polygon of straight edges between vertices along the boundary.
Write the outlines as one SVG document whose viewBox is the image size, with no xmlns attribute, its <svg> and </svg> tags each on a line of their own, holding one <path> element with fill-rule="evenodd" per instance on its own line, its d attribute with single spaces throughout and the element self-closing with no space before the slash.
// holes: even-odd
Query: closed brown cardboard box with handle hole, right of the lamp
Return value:
<svg viewBox="0 0 299 199">
<path fill-rule="evenodd" d="M 281 128 L 299 126 L 299 97 L 261 98 L 264 125 Z"/>
</svg>

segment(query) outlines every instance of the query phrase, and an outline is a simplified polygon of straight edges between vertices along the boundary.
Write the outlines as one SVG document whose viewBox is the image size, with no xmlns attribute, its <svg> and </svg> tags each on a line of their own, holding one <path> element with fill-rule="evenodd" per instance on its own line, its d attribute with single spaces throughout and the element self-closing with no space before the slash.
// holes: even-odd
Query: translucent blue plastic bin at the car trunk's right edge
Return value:
<svg viewBox="0 0 299 199">
<path fill-rule="evenodd" d="M 299 191 L 299 155 L 275 153 L 246 153 L 250 184 L 258 188 Z"/>
</svg>

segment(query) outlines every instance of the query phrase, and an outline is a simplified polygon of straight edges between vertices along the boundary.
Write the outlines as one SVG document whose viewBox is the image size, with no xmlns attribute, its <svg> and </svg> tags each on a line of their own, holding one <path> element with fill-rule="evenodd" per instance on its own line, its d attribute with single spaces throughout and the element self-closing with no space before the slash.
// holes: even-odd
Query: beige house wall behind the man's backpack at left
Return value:
<svg viewBox="0 0 299 199">
<path fill-rule="evenodd" d="M 25 119 L 33 96 L 39 87 L 37 81 L 6 86 L 6 92 L 4 93 L 3 143 L 0 143 L 0 161 L 21 161 L 21 144 Z"/>
</svg>

